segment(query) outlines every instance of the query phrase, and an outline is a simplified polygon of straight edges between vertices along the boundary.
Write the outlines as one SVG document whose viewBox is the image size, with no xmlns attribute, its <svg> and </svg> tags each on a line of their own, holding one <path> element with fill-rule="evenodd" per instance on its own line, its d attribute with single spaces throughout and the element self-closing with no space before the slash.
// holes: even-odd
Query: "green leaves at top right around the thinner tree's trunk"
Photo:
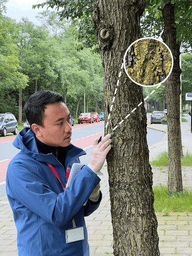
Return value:
<svg viewBox="0 0 192 256">
<path fill-rule="evenodd" d="M 146 0 L 144 17 L 141 19 L 142 35 L 160 36 L 163 31 L 162 9 L 170 2 L 175 5 L 177 44 L 182 43 L 183 49 L 187 51 L 192 45 L 192 1 Z"/>
</svg>

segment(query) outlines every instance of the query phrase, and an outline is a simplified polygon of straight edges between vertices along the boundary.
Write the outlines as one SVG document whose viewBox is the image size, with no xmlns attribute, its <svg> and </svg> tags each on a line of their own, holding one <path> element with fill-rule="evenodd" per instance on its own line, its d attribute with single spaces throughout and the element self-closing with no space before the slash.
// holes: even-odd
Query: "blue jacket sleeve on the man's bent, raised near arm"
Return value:
<svg viewBox="0 0 192 256">
<path fill-rule="evenodd" d="M 57 226 L 63 226 L 71 220 L 100 182 L 97 174 L 84 166 L 72 184 L 65 188 L 63 193 L 57 195 L 51 190 L 49 184 L 33 172 L 29 166 L 21 162 L 10 162 L 6 177 L 8 198 L 10 197 L 13 202 L 15 210 L 23 211 L 22 208 L 25 206 L 26 213 L 34 212 Z M 97 205 L 88 200 L 86 215 L 94 211 Z"/>
</svg>

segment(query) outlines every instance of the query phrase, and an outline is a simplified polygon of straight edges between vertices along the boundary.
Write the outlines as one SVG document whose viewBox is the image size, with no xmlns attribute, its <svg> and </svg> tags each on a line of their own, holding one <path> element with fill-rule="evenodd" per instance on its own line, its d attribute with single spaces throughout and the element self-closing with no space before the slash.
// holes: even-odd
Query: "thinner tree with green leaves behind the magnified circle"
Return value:
<svg viewBox="0 0 192 256">
<path fill-rule="evenodd" d="M 191 1 L 147 0 L 145 11 L 148 12 L 148 15 L 142 19 L 143 35 L 161 36 L 163 42 L 169 46 L 173 54 L 173 71 L 166 81 L 168 104 L 168 188 L 170 191 L 178 192 L 183 190 L 181 172 L 183 152 L 180 126 L 180 47 L 182 46 L 185 51 L 191 47 L 191 6 Z M 150 30 L 148 29 L 149 23 Z"/>
</svg>

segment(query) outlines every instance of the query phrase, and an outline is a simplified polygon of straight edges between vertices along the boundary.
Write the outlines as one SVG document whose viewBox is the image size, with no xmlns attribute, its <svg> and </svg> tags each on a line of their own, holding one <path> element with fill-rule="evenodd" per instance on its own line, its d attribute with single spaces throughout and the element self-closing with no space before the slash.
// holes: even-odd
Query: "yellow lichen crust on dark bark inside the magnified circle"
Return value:
<svg viewBox="0 0 192 256">
<path fill-rule="evenodd" d="M 141 85 L 156 85 L 169 74 L 172 59 L 168 48 L 155 39 L 142 39 L 134 44 L 134 52 L 137 61 L 133 68 L 128 68 L 130 77 Z M 162 76 L 163 75 L 163 76 Z M 163 78 L 164 79 L 164 78 Z"/>
</svg>

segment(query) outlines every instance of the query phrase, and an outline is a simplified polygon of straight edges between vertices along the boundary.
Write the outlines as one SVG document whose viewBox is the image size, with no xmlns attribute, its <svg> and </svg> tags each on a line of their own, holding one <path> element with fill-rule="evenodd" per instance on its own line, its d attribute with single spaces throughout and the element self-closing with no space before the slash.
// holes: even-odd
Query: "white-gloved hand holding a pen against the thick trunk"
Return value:
<svg viewBox="0 0 192 256">
<path fill-rule="evenodd" d="M 88 167 L 93 170 L 96 174 L 103 175 L 100 172 L 101 168 L 103 167 L 105 158 L 109 150 L 111 150 L 111 145 L 109 145 L 112 140 L 111 134 L 107 134 L 98 144 L 99 139 L 95 139 L 93 141 L 93 146 L 91 150 L 91 155 L 89 159 Z"/>
</svg>

